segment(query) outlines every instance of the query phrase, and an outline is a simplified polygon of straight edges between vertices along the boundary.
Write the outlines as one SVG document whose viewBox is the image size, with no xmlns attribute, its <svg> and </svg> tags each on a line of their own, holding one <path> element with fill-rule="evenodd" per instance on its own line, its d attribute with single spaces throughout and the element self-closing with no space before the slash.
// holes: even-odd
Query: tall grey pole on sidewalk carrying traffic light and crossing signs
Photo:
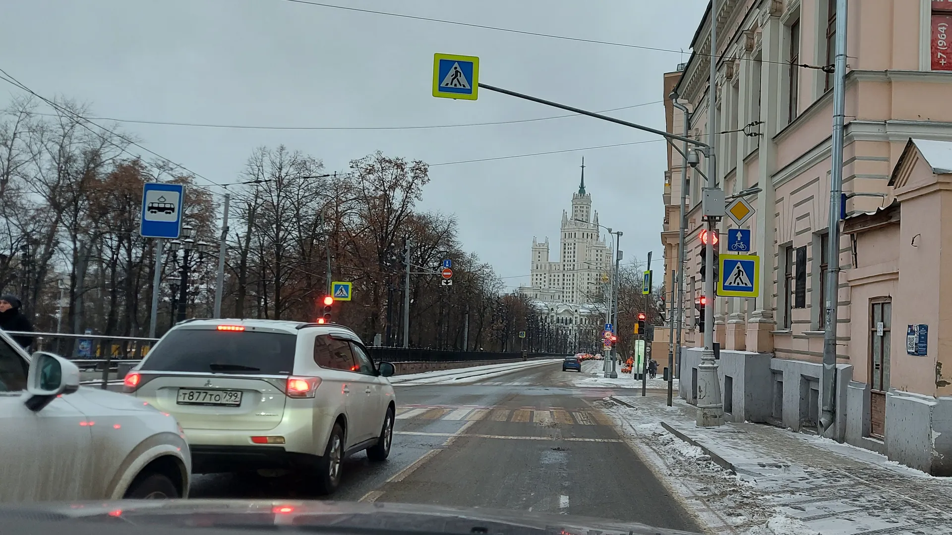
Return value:
<svg viewBox="0 0 952 535">
<path fill-rule="evenodd" d="M 710 186 L 717 188 L 717 15 L 718 1 L 711 0 L 711 36 L 710 36 L 710 80 L 707 95 L 707 133 L 710 134 L 707 148 L 707 179 Z M 710 191 L 709 189 L 707 191 Z M 721 190 L 720 203 L 704 202 L 709 207 L 702 207 L 705 217 L 704 228 L 707 229 L 707 244 L 704 246 L 704 263 L 707 272 L 704 276 L 704 296 L 707 305 L 704 307 L 704 350 L 701 352 L 701 364 L 698 366 L 698 411 L 695 424 L 699 427 L 724 425 L 724 406 L 721 402 L 721 380 L 718 377 L 718 365 L 714 360 L 714 232 L 717 228 L 717 212 L 710 211 L 720 207 L 720 214 L 724 214 L 724 191 Z M 706 201 L 706 199 L 704 199 Z M 710 208 L 710 209 L 708 209 Z"/>
</svg>

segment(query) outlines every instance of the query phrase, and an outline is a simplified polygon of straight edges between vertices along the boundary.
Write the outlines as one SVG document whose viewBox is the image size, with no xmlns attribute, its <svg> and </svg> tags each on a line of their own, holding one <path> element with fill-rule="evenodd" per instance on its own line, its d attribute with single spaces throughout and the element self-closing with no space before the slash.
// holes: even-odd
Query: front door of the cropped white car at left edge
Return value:
<svg viewBox="0 0 952 535">
<path fill-rule="evenodd" d="M 33 412 L 27 361 L 0 338 L 0 502 L 89 500 L 89 421 L 63 398 Z M 79 393 L 70 395 L 82 395 Z"/>
</svg>

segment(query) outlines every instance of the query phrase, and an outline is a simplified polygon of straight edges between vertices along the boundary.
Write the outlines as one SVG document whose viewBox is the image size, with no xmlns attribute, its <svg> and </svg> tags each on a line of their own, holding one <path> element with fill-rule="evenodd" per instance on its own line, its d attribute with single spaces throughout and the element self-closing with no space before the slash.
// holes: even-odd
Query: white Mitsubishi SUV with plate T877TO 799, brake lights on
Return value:
<svg viewBox="0 0 952 535">
<path fill-rule="evenodd" d="M 396 401 L 347 327 L 275 320 L 190 320 L 172 327 L 125 389 L 185 428 L 195 473 L 313 471 L 332 492 L 345 456 L 390 453 Z"/>
</svg>

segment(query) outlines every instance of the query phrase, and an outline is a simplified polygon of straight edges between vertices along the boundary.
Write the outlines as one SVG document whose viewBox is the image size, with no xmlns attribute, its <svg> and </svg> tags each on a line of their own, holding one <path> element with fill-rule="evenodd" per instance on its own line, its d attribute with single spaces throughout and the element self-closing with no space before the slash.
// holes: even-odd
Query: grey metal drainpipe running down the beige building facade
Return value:
<svg viewBox="0 0 952 535">
<path fill-rule="evenodd" d="M 830 0 L 831 2 L 834 0 Z M 840 196 L 843 193 L 843 114 L 846 108 L 846 0 L 836 1 L 836 59 L 833 73 L 833 137 L 830 156 L 830 213 L 826 317 L 823 323 L 823 406 L 820 426 L 826 431 L 836 417 L 836 331 L 840 301 Z"/>
</svg>

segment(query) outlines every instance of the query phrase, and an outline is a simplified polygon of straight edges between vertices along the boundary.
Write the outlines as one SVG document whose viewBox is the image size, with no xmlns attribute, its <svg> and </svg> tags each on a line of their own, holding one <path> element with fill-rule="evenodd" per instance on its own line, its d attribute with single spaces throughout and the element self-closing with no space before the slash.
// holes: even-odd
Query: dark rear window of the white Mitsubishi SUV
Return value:
<svg viewBox="0 0 952 535">
<path fill-rule="evenodd" d="M 181 328 L 149 351 L 143 370 L 290 375 L 297 336 L 281 332 Z"/>
</svg>

